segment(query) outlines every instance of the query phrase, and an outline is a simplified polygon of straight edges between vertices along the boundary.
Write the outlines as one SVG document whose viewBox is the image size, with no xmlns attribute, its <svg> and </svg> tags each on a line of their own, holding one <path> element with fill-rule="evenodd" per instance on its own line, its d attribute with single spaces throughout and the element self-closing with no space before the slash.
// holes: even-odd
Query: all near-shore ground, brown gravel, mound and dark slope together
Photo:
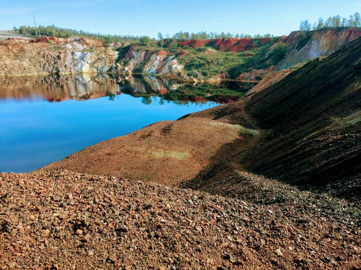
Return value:
<svg viewBox="0 0 361 270">
<path fill-rule="evenodd" d="M 1 173 L 0 265 L 358 269 L 360 53 L 357 39 L 238 102 Z"/>
</svg>

